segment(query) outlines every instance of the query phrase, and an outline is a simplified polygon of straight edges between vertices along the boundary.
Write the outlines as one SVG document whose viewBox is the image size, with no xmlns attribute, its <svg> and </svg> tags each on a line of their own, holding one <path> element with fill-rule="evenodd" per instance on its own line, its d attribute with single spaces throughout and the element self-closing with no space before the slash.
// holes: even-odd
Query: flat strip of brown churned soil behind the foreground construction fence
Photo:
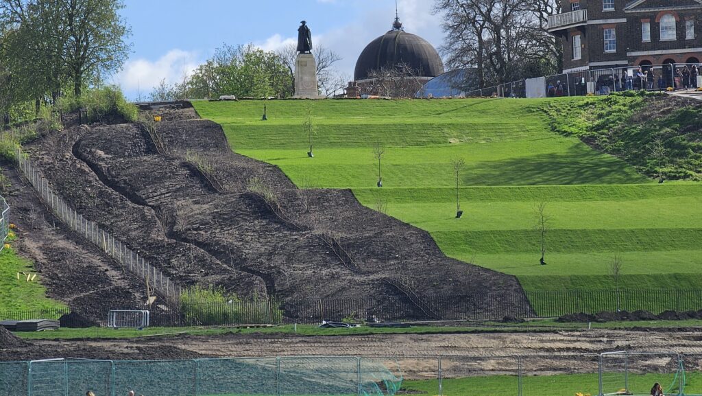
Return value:
<svg viewBox="0 0 702 396">
<path fill-rule="evenodd" d="M 89 359 L 190 359 L 193 357 L 352 356 L 397 359 L 407 379 L 437 372 L 443 356 L 446 377 L 474 370 L 500 373 L 517 368 L 514 356 L 527 357 L 534 373 L 597 372 L 597 358 L 583 354 L 621 350 L 702 352 L 698 329 L 656 331 L 567 331 L 559 333 L 396 334 L 301 337 L 293 334 L 163 336 L 132 340 L 32 341 L 3 350 L 0 360 L 83 357 Z M 580 354 L 569 356 L 566 354 Z M 470 357 L 470 358 L 468 358 Z M 508 357 L 508 358 L 505 358 Z M 651 359 L 647 359 L 651 360 Z M 663 359 L 656 359 L 663 361 Z M 651 364 L 655 364 L 651 360 Z M 664 362 L 661 364 L 665 364 Z M 513 367 L 512 367 L 513 366 Z M 655 372 L 655 368 L 648 369 Z M 484 374 L 483 374 L 484 375 Z M 431 378 L 431 376 L 429 377 Z"/>
</svg>

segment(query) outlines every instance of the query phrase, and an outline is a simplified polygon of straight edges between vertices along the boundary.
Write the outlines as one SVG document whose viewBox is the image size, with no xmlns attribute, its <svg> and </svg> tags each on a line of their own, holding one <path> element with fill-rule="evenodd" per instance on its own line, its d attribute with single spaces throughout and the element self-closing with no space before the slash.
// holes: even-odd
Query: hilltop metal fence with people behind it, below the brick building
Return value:
<svg viewBox="0 0 702 396">
<path fill-rule="evenodd" d="M 699 70 L 691 73 L 692 66 Z M 687 72 L 686 72 L 687 69 Z M 652 73 L 652 74 L 651 74 Z M 608 95 L 612 92 L 668 89 L 695 89 L 701 87 L 698 77 L 701 65 L 696 63 L 666 63 L 664 65 L 627 66 L 582 70 L 543 77 L 545 96 Z M 497 96 L 501 98 L 527 98 L 527 80 L 506 82 L 494 87 L 474 89 L 465 96 Z"/>
</svg>

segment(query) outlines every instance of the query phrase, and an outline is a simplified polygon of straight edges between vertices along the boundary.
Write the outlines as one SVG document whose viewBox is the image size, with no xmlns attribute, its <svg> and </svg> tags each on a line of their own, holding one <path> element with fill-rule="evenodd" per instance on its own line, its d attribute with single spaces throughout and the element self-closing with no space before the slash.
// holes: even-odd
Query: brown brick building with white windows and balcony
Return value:
<svg viewBox="0 0 702 396">
<path fill-rule="evenodd" d="M 700 63 L 702 0 L 559 0 L 563 71 Z"/>
</svg>

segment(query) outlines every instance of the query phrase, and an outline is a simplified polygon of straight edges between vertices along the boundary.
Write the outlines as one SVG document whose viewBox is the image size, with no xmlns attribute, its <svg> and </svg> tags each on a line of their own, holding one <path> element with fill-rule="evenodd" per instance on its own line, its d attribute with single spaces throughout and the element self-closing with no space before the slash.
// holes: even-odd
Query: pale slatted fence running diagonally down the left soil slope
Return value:
<svg viewBox="0 0 702 396">
<path fill-rule="evenodd" d="M 67 205 L 55 193 L 48 180 L 41 176 L 40 172 L 32 165 L 28 156 L 22 152 L 22 148 L 19 146 L 15 149 L 15 155 L 20 172 L 32 184 L 37 196 L 69 229 L 75 231 L 87 241 L 93 243 L 93 245 L 98 246 L 105 254 L 117 260 L 129 272 L 147 281 L 154 291 L 162 297 L 171 302 L 178 302 L 182 292 L 180 285 L 173 283 L 168 276 L 152 267 L 142 255 L 128 248 L 126 243 L 114 238 L 97 223 L 86 219 Z"/>
</svg>

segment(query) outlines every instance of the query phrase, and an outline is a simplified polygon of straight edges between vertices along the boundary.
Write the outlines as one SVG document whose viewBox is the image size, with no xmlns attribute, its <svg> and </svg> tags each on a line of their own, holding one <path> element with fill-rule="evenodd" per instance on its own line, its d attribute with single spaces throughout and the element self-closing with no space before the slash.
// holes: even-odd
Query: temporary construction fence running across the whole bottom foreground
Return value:
<svg viewBox="0 0 702 396">
<path fill-rule="evenodd" d="M 702 355 L 675 352 L 0 363 L 0 396 L 702 394 Z"/>
</svg>

